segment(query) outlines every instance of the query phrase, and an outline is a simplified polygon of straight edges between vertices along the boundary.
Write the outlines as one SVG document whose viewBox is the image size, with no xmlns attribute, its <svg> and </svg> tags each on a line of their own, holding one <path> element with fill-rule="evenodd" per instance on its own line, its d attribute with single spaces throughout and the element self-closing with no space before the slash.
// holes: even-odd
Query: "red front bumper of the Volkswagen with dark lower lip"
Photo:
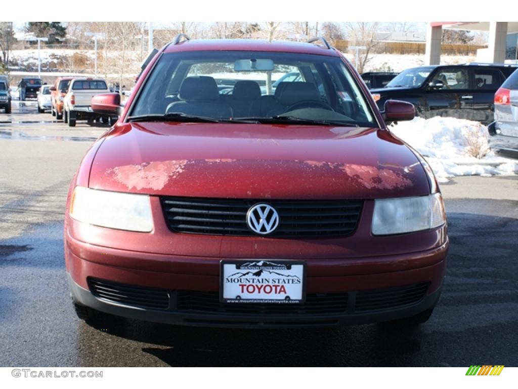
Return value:
<svg viewBox="0 0 518 389">
<path fill-rule="evenodd" d="M 365 273 L 358 265 L 362 259 L 307 260 L 308 301 L 310 296 L 320 298 L 322 307 L 294 311 L 290 306 L 286 312 L 281 307 L 271 312 L 265 307 L 268 304 L 227 309 L 218 299 L 221 258 L 124 251 L 80 242 L 69 234 L 65 251 L 73 299 L 98 311 L 178 325 L 320 327 L 389 321 L 433 307 L 441 294 L 448 241 L 425 252 L 365 258 L 365 262 L 384 263 L 380 272 Z M 148 260 L 150 266 L 124 265 L 135 263 L 135 258 Z M 423 265 L 399 266 L 409 262 Z M 394 271 L 388 270 L 391 267 Z M 96 282 L 105 285 L 100 294 L 92 286 Z M 330 301 L 334 308 L 329 310 Z"/>
</svg>

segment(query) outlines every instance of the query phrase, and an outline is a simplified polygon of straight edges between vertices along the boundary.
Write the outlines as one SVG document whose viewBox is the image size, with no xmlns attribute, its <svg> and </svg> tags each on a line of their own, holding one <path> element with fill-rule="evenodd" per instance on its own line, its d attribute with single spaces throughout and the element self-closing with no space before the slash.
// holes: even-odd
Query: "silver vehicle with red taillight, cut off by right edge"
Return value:
<svg viewBox="0 0 518 389">
<path fill-rule="evenodd" d="M 488 130 L 491 149 L 518 158 L 518 70 L 495 93 L 495 121 Z"/>
</svg>

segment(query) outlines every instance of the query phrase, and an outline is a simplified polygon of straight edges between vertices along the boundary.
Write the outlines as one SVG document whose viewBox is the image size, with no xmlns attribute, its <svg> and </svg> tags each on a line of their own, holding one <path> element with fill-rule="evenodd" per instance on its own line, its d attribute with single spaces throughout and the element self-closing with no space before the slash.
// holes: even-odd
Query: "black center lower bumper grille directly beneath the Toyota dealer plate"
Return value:
<svg viewBox="0 0 518 389">
<path fill-rule="evenodd" d="M 301 304 L 222 303 L 217 292 L 178 291 L 178 311 L 243 314 L 332 314 L 347 311 L 347 292 L 310 294 Z"/>
</svg>

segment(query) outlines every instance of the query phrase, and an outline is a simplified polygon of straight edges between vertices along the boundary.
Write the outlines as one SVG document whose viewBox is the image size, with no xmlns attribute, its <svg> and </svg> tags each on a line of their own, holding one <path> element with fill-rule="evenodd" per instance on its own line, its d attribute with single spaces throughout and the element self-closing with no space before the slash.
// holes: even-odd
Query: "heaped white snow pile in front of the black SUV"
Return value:
<svg viewBox="0 0 518 389">
<path fill-rule="evenodd" d="M 517 160 L 498 157 L 489 149 L 487 127 L 476 121 L 415 118 L 391 126 L 391 131 L 425 157 L 441 183 L 454 176 L 518 172 Z"/>
</svg>

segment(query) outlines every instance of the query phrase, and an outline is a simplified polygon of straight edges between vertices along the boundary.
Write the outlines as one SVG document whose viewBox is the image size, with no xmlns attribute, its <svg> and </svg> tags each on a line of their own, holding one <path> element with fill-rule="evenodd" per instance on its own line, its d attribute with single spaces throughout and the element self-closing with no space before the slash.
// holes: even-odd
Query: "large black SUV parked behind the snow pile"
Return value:
<svg viewBox="0 0 518 389">
<path fill-rule="evenodd" d="M 382 89 L 371 93 L 383 112 L 387 100 L 415 106 L 416 115 L 493 121 L 494 95 L 516 70 L 511 65 L 463 64 L 422 66 L 407 69 Z"/>
</svg>

